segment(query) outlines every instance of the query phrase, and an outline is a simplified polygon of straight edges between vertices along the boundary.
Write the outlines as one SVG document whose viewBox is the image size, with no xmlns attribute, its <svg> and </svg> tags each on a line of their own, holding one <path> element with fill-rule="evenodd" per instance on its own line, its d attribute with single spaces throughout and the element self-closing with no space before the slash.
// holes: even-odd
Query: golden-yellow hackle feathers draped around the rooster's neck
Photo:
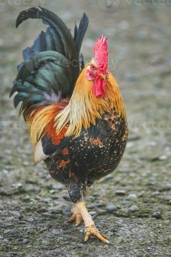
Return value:
<svg viewBox="0 0 171 257">
<path fill-rule="evenodd" d="M 77 79 L 69 104 L 55 117 L 56 133 L 70 121 L 65 136 L 79 136 L 82 127 L 88 128 L 90 123 L 95 125 L 95 119 L 101 119 L 100 114 L 116 109 L 119 116 L 126 118 L 125 104 L 118 84 L 110 73 L 106 83 L 106 96 L 96 98 L 92 86 L 94 81 L 86 79 L 87 66 Z"/>
</svg>

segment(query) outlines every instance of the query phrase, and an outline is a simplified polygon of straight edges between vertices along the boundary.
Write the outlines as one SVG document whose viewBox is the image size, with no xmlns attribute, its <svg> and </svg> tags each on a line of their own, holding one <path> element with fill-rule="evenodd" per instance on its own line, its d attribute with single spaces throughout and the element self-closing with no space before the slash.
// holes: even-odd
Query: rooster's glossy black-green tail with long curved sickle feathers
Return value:
<svg viewBox="0 0 171 257">
<path fill-rule="evenodd" d="M 49 25 L 41 32 L 33 46 L 23 51 L 24 62 L 18 65 L 18 75 L 10 96 L 14 92 L 14 106 L 22 101 L 20 113 L 39 105 L 58 102 L 72 94 L 76 79 L 84 67 L 82 54 L 79 55 L 82 40 L 88 26 L 84 13 L 79 27 L 75 25 L 74 37 L 64 22 L 53 12 L 38 7 L 22 11 L 16 27 L 27 19 L 42 19 Z M 77 65 L 76 65 L 77 64 Z"/>
</svg>

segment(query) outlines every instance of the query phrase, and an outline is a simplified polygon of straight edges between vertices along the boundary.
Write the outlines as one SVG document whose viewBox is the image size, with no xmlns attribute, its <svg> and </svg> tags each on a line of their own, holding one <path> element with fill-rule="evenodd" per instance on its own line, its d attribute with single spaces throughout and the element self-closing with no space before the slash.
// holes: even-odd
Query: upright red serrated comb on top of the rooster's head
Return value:
<svg viewBox="0 0 171 257">
<path fill-rule="evenodd" d="M 94 56 L 95 61 L 99 66 L 101 73 L 106 74 L 108 66 L 108 51 L 107 51 L 107 38 L 103 42 L 104 35 L 102 35 L 95 43 L 94 46 Z"/>
</svg>

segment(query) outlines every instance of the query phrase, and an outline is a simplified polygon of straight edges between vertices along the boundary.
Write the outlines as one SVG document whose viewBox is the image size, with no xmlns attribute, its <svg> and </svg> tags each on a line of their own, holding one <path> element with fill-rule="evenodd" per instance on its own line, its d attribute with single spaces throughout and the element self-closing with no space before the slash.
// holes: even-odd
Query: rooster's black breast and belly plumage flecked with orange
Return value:
<svg viewBox="0 0 171 257">
<path fill-rule="evenodd" d="M 43 152 L 50 175 L 65 184 L 70 198 L 77 202 L 85 196 L 86 186 L 92 185 L 118 166 L 128 137 L 128 125 L 116 113 L 101 114 L 96 124 L 82 128 L 81 135 L 64 137 L 58 145 L 44 135 Z"/>
</svg>

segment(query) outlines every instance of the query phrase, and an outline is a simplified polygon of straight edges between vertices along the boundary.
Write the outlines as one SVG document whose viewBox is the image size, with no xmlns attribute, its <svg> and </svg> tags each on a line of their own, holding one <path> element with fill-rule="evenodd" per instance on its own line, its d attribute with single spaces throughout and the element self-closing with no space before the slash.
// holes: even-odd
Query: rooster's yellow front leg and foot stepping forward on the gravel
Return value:
<svg viewBox="0 0 171 257">
<path fill-rule="evenodd" d="M 88 213 L 85 202 L 78 202 L 76 203 L 76 206 L 78 207 L 82 218 L 84 220 L 84 224 L 85 224 L 85 242 L 88 241 L 88 238 L 91 234 L 95 235 L 96 237 L 98 237 L 102 242 L 110 244 L 108 237 L 106 237 L 105 235 L 101 234 L 99 232 L 99 230 L 96 228 L 94 221 L 92 219 L 92 216 Z"/>
</svg>

